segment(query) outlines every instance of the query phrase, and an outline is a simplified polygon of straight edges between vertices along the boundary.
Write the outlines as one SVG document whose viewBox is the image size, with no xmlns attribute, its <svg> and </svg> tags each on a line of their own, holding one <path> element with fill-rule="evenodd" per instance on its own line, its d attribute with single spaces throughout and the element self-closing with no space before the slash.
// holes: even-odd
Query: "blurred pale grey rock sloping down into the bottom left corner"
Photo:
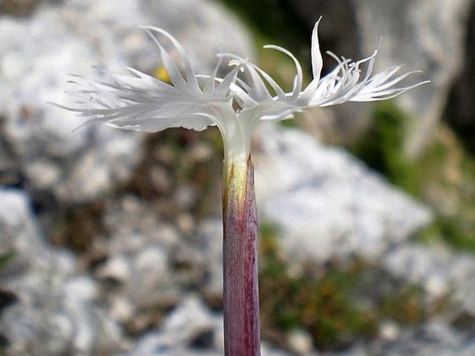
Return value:
<svg viewBox="0 0 475 356">
<path fill-rule="evenodd" d="M 15 253 L 0 273 L 2 288 L 17 297 L 0 316 L 8 355 L 119 349 L 121 330 L 96 307 L 96 282 L 76 271 L 73 255 L 46 244 L 24 192 L 0 189 L 0 246 Z"/>
</svg>

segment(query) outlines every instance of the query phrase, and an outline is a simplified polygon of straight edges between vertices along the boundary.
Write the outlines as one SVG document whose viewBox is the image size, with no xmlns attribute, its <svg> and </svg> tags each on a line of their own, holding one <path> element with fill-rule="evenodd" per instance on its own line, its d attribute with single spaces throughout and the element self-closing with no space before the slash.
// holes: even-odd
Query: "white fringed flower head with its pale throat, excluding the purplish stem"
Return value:
<svg viewBox="0 0 475 356">
<path fill-rule="evenodd" d="M 319 22 L 313 28 L 311 43 L 313 80 L 303 90 L 302 67 L 297 58 L 282 47 L 266 46 L 285 53 L 294 61 L 297 75 L 291 92 L 285 92 L 257 65 L 232 53 L 218 54 L 213 74 L 198 75 L 172 35 L 160 28 L 145 27 L 158 46 L 170 83 L 132 68 L 127 68 L 131 76 L 107 74 L 110 80 L 103 83 L 75 76 L 76 80 L 71 83 L 79 85 L 80 89 L 70 94 L 78 96 L 80 107 L 69 110 L 80 112 L 81 117 L 88 119 L 82 126 L 104 123 L 126 130 L 157 132 L 171 127 L 203 130 L 216 125 L 223 135 L 226 164 L 245 163 L 250 153 L 252 130 L 260 120 L 285 119 L 312 106 L 389 99 L 427 83 L 395 87 L 415 73 L 399 76 L 400 66 L 372 76 L 377 51 L 358 62 L 329 53 L 337 61 L 336 68 L 320 77 Z M 178 58 L 172 60 L 164 48 L 165 42 L 176 51 Z M 232 68 L 224 78 L 219 78 L 216 75 L 218 67 L 225 58 Z M 363 65 L 366 66 L 364 75 Z M 247 72 L 247 80 L 240 76 L 243 69 Z"/>
</svg>

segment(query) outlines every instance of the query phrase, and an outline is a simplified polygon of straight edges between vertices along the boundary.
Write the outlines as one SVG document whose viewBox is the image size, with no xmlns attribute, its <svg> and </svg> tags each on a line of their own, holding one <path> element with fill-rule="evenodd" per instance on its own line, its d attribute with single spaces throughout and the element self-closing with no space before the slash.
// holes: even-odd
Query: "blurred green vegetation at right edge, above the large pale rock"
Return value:
<svg viewBox="0 0 475 356">
<path fill-rule="evenodd" d="M 444 239 L 475 252 L 475 159 L 449 127 L 440 124 L 432 144 L 415 161 L 404 154 L 410 118 L 391 102 L 374 110 L 372 128 L 353 151 L 390 182 L 424 201 L 435 212 L 420 239 Z"/>
</svg>

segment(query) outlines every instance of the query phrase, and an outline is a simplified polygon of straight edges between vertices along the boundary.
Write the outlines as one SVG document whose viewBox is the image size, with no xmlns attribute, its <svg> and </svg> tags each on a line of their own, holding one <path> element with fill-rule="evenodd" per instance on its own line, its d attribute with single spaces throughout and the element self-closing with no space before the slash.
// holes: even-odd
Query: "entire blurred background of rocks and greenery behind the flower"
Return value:
<svg viewBox="0 0 475 356">
<path fill-rule="evenodd" d="M 475 1 L 0 0 L 0 355 L 222 355 L 221 138 L 74 130 L 68 73 L 201 71 L 291 87 L 322 50 L 431 80 L 254 137 L 263 356 L 475 355 Z M 324 56 L 325 68 L 334 62 Z"/>
</svg>

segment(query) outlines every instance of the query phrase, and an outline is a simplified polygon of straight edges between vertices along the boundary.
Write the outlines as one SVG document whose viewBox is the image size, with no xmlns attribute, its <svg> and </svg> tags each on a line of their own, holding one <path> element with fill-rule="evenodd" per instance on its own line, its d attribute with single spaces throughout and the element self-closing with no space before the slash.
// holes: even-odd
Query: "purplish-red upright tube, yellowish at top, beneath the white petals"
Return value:
<svg viewBox="0 0 475 356">
<path fill-rule="evenodd" d="M 247 163 L 247 164 L 246 164 Z M 258 223 L 254 168 L 231 164 L 223 194 L 225 356 L 259 356 Z"/>
</svg>

